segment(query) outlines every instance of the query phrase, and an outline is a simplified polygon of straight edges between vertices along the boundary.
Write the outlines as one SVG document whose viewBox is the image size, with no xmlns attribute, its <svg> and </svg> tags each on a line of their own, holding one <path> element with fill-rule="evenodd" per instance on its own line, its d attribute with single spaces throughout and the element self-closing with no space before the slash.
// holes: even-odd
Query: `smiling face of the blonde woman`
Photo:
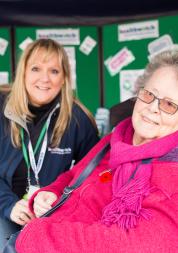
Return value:
<svg viewBox="0 0 178 253">
<path fill-rule="evenodd" d="M 45 54 L 43 49 L 39 50 L 29 58 L 26 66 L 25 86 L 30 103 L 34 106 L 50 103 L 64 84 L 59 56 L 54 53 L 45 57 Z"/>
</svg>

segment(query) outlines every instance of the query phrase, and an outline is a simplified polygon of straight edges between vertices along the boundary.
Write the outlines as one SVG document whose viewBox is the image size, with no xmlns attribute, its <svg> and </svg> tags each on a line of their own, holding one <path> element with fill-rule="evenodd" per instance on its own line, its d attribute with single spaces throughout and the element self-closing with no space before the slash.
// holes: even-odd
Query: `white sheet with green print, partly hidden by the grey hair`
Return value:
<svg viewBox="0 0 178 253">
<path fill-rule="evenodd" d="M 142 75 L 144 69 L 122 70 L 120 72 L 120 100 L 125 101 L 136 95 L 136 83 L 138 76 Z"/>
</svg>

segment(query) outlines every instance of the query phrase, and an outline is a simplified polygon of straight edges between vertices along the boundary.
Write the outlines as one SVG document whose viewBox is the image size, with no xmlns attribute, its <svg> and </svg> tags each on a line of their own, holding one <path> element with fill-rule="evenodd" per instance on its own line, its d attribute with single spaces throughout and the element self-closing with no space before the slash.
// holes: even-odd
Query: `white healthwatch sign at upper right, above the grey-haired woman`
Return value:
<svg viewBox="0 0 178 253">
<path fill-rule="evenodd" d="M 118 26 L 118 41 L 140 40 L 159 36 L 158 20 Z"/>
</svg>

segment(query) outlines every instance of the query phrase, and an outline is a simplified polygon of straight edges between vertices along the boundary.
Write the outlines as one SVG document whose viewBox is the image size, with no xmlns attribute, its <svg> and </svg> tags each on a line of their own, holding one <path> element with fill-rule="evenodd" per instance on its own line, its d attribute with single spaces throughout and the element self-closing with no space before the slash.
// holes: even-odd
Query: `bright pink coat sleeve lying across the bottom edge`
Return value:
<svg viewBox="0 0 178 253">
<path fill-rule="evenodd" d="M 165 213 L 168 202 L 174 220 Z M 107 227 L 99 221 L 86 224 L 50 218 L 34 220 L 19 235 L 16 249 L 18 253 L 177 252 L 177 203 L 178 194 L 175 194 L 171 201 L 160 204 L 163 208 L 152 207 L 153 218 L 141 220 L 130 231 L 123 231 L 117 225 Z"/>
</svg>

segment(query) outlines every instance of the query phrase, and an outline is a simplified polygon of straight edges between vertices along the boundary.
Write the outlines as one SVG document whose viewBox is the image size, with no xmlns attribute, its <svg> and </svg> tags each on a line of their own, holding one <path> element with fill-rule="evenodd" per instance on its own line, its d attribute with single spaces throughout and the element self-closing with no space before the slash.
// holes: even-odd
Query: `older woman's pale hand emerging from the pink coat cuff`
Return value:
<svg viewBox="0 0 178 253">
<path fill-rule="evenodd" d="M 33 210 L 36 217 L 40 217 L 52 208 L 52 204 L 57 200 L 56 194 L 48 191 L 41 191 L 34 198 Z"/>
</svg>

